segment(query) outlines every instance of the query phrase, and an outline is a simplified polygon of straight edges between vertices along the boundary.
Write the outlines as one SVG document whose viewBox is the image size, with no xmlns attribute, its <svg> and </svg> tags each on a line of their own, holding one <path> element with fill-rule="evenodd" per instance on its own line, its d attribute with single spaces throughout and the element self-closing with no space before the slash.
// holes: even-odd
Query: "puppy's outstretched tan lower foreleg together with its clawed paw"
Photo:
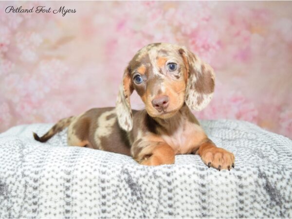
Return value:
<svg viewBox="0 0 292 219">
<path fill-rule="evenodd" d="M 204 141 L 199 146 L 199 149 L 194 152 L 201 156 L 204 164 L 219 169 L 219 171 L 221 169 L 230 170 L 231 167 L 234 167 L 235 157 L 233 153 L 223 148 L 216 147 L 210 139 Z"/>
</svg>

